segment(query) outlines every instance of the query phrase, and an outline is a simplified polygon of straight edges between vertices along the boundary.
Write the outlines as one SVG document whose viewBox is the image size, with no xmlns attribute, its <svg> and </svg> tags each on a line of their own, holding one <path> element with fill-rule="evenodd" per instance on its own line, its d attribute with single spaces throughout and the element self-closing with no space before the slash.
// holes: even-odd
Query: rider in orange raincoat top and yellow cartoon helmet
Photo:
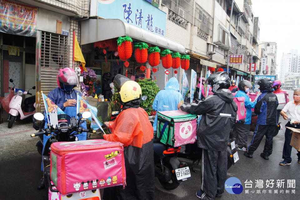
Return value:
<svg viewBox="0 0 300 200">
<path fill-rule="evenodd" d="M 124 144 L 127 186 L 124 190 L 118 186 L 116 192 L 105 189 L 103 199 L 154 199 L 153 127 L 147 112 L 139 107 L 141 87 L 121 74 L 113 84 L 120 91 L 123 110 L 115 121 L 105 122 L 112 134 L 103 137 Z"/>
</svg>

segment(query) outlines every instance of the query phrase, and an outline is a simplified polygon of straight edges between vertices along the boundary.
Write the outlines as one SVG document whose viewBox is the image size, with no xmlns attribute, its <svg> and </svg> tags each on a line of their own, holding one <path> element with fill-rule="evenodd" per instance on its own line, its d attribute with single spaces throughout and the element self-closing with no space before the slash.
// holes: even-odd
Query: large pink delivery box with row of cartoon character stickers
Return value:
<svg viewBox="0 0 300 200">
<path fill-rule="evenodd" d="M 126 184 L 123 144 L 106 140 L 54 142 L 50 176 L 57 190 L 73 192 Z"/>
</svg>

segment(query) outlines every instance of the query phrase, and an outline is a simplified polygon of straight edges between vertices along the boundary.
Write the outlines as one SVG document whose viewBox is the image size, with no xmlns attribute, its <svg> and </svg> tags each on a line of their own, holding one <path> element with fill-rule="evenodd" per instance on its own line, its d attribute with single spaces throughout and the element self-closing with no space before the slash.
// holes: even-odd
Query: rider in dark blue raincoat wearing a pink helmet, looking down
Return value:
<svg viewBox="0 0 300 200">
<path fill-rule="evenodd" d="M 71 68 L 60 69 L 57 75 L 58 88 L 50 91 L 47 97 L 52 101 L 51 103 L 56 104 L 63 112 L 70 117 L 77 115 L 77 93 L 82 96 L 82 93 L 74 90 L 73 88 L 79 83 L 77 73 Z M 47 115 L 45 114 L 45 128 L 47 128 Z M 86 122 L 82 123 L 84 129 L 87 128 Z M 86 140 L 87 133 L 82 132 L 76 135 L 78 140 Z M 46 142 L 50 136 L 43 135 L 43 146 L 45 147 Z M 44 152 L 43 147 L 43 152 Z M 43 171 L 43 169 L 42 169 Z M 37 189 L 42 189 L 44 185 L 44 177 L 38 182 Z"/>
</svg>

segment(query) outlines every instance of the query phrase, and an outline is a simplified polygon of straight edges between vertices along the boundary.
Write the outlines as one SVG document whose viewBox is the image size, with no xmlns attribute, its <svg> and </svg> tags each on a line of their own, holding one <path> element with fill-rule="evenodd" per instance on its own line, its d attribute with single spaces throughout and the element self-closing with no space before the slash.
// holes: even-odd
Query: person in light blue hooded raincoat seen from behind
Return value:
<svg viewBox="0 0 300 200">
<path fill-rule="evenodd" d="M 155 96 L 152 108 L 155 111 L 178 110 L 177 105 L 183 101 L 182 95 L 179 92 L 179 83 L 175 77 L 172 77 L 164 90 L 161 90 Z M 157 114 L 153 123 L 153 130 L 156 131 Z"/>
</svg>

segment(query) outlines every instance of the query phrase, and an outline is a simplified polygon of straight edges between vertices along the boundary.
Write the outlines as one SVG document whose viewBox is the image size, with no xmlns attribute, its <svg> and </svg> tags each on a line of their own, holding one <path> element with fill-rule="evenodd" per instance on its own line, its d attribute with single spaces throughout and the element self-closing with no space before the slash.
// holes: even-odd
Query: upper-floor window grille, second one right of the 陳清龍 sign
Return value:
<svg viewBox="0 0 300 200">
<path fill-rule="evenodd" d="M 200 28 L 206 34 L 212 36 L 212 17 L 196 3 L 195 8 L 195 26 Z"/>
</svg>

